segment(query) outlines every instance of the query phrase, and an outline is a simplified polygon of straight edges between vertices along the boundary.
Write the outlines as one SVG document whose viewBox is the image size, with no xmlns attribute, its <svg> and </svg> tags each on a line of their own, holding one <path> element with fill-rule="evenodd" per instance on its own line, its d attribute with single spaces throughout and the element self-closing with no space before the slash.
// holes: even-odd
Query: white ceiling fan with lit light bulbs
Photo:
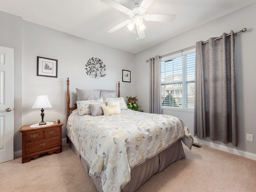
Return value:
<svg viewBox="0 0 256 192">
<path fill-rule="evenodd" d="M 127 14 L 130 19 L 125 20 L 124 22 L 118 24 L 117 26 L 114 26 L 110 30 L 108 30 L 109 33 L 113 33 L 120 28 L 127 26 L 129 30 L 134 30 L 134 26 L 136 26 L 137 31 L 137 39 L 143 39 L 145 38 L 145 32 L 144 29 L 146 26 L 143 24 L 143 19 L 146 21 L 160 21 L 160 22 L 172 22 L 175 20 L 176 15 L 165 15 L 165 14 L 146 14 L 146 10 L 148 7 L 152 4 L 154 0 L 132 0 L 135 5 L 140 6 L 133 8 L 132 10 L 128 9 L 127 7 L 119 4 L 118 2 L 114 0 L 100 0 L 101 2 L 108 4 L 109 6 L 112 6 L 113 8 Z"/>
</svg>

